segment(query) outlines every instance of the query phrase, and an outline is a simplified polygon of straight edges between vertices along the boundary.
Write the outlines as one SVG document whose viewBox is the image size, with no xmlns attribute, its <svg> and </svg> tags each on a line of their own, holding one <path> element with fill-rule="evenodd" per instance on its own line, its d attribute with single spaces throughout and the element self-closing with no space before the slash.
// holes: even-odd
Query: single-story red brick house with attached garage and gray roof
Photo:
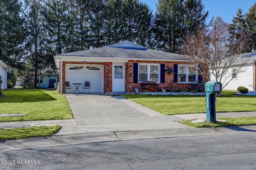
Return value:
<svg viewBox="0 0 256 170">
<path fill-rule="evenodd" d="M 178 82 L 188 88 L 195 80 L 202 81 L 184 56 L 147 49 L 130 41 L 59 54 L 54 60 L 61 94 L 66 93 L 65 81 L 90 81 L 91 93 L 134 92 L 142 81 L 155 81 L 160 87 Z M 82 92 L 82 86 L 79 90 Z"/>
</svg>

